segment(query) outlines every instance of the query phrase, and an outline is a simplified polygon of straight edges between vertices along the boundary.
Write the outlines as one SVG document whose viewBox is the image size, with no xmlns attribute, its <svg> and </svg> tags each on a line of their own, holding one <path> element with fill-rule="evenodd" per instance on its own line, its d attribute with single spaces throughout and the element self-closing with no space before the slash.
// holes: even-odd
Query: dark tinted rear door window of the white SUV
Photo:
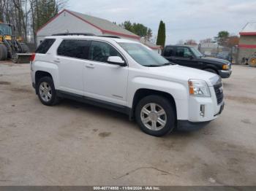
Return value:
<svg viewBox="0 0 256 191">
<path fill-rule="evenodd" d="M 88 58 L 89 42 L 80 39 L 65 39 L 59 45 L 58 55 L 68 56 L 72 58 Z"/>
</svg>

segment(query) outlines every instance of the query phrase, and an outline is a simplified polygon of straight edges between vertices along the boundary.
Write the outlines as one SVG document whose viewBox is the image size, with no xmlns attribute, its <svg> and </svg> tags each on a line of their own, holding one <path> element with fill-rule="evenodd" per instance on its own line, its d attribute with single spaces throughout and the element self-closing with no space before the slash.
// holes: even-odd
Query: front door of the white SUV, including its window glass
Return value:
<svg viewBox="0 0 256 191">
<path fill-rule="evenodd" d="M 108 63 L 109 56 L 119 56 L 124 60 L 121 53 L 107 42 L 91 41 L 89 61 L 83 74 L 85 95 L 125 106 L 128 67 Z"/>
</svg>

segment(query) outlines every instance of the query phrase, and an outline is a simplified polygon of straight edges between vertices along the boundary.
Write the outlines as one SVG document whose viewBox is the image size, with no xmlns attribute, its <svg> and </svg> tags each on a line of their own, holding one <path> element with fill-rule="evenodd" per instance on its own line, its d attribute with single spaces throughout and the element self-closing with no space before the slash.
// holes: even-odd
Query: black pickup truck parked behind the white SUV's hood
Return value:
<svg viewBox="0 0 256 191">
<path fill-rule="evenodd" d="M 228 78 L 232 73 L 231 63 L 229 61 L 218 58 L 207 58 L 192 46 L 166 46 L 162 51 L 162 56 L 172 63 L 209 71 L 219 74 L 222 78 Z"/>
</svg>

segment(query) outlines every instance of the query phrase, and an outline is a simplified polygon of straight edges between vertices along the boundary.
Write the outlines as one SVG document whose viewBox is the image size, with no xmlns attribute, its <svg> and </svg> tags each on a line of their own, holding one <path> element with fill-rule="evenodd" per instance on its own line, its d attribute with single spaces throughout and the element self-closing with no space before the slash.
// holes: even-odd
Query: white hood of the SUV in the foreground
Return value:
<svg viewBox="0 0 256 191">
<path fill-rule="evenodd" d="M 213 86 L 219 76 L 208 71 L 192 69 L 186 66 L 170 65 L 161 67 L 148 67 L 149 71 L 159 77 L 165 77 L 171 81 L 184 82 L 187 84 L 189 79 L 201 79 L 207 82 L 208 86 Z"/>
</svg>

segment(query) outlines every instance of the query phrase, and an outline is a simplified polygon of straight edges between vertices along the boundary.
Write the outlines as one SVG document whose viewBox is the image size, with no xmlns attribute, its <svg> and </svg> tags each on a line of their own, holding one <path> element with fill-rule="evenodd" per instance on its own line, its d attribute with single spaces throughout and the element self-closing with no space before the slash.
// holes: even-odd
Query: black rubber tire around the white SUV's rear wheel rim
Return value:
<svg viewBox="0 0 256 191">
<path fill-rule="evenodd" d="M 48 101 L 45 100 L 47 98 L 46 98 L 46 96 L 43 95 L 44 91 L 40 90 L 40 85 L 43 85 L 43 83 L 46 83 L 48 85 L 48 87 L 50 87 L 49 93 L 51 94 L 51 97 L 50 98 L 47 97 L 47 98 L 49 98 Z M 42 77 L 41 79 L 39 79 L 39 82 L 37 83 L 37 95 L 38 95 L 39 100 L 45 106 L 54 106 L 59 103 L 59 98 L 56 95 L 56 90 L 54 87 L 53 79 L 51 77 Z"/>
</svg>

